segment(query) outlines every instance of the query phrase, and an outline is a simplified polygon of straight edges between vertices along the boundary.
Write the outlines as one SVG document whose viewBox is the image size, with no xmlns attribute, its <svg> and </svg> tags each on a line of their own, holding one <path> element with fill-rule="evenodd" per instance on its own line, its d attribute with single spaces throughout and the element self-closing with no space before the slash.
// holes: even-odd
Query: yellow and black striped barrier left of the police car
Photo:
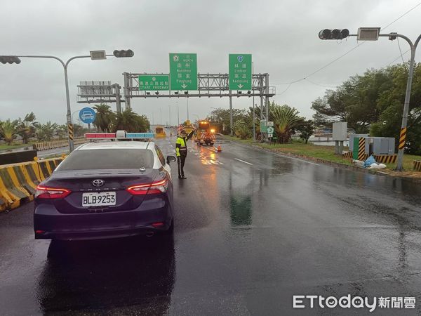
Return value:
<svg viewBox="0 0 421 316">
<path fill-rule="evenodd" d="M 36 185 L 48 178 L 64 157 L 0 166 L 0 212 L 32 201 Z"/>
</svg>

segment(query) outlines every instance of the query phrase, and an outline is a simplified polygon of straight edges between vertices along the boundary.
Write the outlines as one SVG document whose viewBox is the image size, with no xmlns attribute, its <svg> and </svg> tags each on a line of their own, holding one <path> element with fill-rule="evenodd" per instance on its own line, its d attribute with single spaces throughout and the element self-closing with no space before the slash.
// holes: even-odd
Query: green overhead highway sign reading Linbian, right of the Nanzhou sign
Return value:
<svg viewBox="0 0 421 316">
<path fill-rule="evenodd" d="M 229 90 L 251 90 L 251 54 L 229 54 Z"/>
</svg>

